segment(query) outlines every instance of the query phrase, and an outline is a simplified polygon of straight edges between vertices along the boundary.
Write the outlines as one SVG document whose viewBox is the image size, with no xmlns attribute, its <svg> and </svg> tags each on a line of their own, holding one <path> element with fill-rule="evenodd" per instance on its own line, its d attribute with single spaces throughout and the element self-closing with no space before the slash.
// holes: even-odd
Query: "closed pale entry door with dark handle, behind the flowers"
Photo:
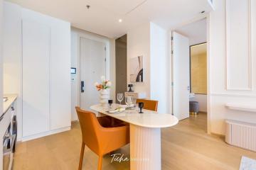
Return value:
<svg viewBox="0 0 256 170">
<path fill-rule="evenodd" d="M 94 84 L 106 74 L 105 47 L 104 42 L 80 38 L 80 108 L 87 111 L 100 101 Z"/>
</svg>

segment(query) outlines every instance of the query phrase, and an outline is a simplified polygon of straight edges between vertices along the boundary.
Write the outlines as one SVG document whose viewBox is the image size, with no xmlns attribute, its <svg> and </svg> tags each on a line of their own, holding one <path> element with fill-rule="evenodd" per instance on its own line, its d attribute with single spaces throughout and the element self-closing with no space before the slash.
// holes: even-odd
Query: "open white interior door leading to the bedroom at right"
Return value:
<svg viewBox="0 0 256 170">
<path fill-rule="evenodd" d="M 176 32 L 173 42 L 173 113 L 178 120 L 189 117 L 189 40 Z"/>
</svg>

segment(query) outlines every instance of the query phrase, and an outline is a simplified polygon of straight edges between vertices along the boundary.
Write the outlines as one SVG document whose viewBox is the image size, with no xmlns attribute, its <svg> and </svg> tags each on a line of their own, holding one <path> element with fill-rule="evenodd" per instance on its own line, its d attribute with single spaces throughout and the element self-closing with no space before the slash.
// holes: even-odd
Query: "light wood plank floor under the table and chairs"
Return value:
<svg viewBox="0 0 256 170">
<path fill-rule="evenodd" d="M 14 170 L 78 169 L 81 133 L 79 123 L 72 130 L 17 145 Z M 221 137 L 206 134 L 206 114 L 180 121 L 161 130 L 162 169 L 239 169 L 242 155 L 256 159 L 256 153 L 232 147 Z M 117 150 L 129 157 L 129 145 Z M 129 162 L 110 163 L 106 155 L 103 169 L 129 169 Z M 97 155 L 85 148 L 83 169 L 97 169 Z"/>
</svg>

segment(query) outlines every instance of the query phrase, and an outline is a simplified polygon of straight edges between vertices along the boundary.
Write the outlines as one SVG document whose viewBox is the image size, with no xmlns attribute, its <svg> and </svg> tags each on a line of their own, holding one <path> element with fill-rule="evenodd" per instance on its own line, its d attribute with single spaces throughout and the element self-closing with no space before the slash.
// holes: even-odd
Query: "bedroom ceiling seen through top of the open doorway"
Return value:
<svg viewBox="0 0 256 170">
<path fill-rule="evenodd" d="M 190 45 L 196 45 L 207 41 L 207 24 L 206 18 L 201 21 L 189 23 L 186 26 L 177 28 L 176 32 L 181 33 L 189 38 Z"/>
</svg>

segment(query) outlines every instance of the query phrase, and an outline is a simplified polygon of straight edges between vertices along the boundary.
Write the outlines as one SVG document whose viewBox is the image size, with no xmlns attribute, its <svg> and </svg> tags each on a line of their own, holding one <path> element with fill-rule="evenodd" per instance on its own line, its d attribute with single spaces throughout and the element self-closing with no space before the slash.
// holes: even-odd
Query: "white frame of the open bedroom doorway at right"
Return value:
<svg viewBox="0 0 256 170">
<path fill-rule="evenodd" d="M 174 90 L 174 86 L 173 86 L 173 67 L 172 67 L 172 64 L 173 64 L 173 55 L 172 55 L 172 40 L 171 40 L 171 37 L 172 37 L 172 32 L 176 30 L 176 28 L 180 28 L 181 26 L 186 26 L 187 24 L 189 23 L 194 23 L 196 21 L 200 21 L 201 19 L 203 18 L 206 18 L 206 41 L 207 41 L 207 133 L 210 134 L 210 13 L 206 13 L 205 15 L 203 16 L 200 16 L 198 18 L 194 18 L 193 20 L 191 21 L 188 21 L 186 23 L 183 23 L 179 26 L 176 26 L 175 28 L 172 28 L 170 31 L 169 31 L 169 46 L 170 46 L 170 50 L 169 50 L 169 55 L 171 56 L 171 60 L 170 60 L 170 65 L 171 65 L 171 69 L 169 69 L 169 72 L 171 72 L 170 74 L 170 86 L 171 86 L 171 91 L 170 91 L 170 96 L 171 96 L 171 100 L 170 100 L 170 103 L 169 105 L 171 106 L 171 113 L 173 114 L 173 100 L 174 100 L 174 93 L 173 93 L 173 90 Z"/>
</svg>

